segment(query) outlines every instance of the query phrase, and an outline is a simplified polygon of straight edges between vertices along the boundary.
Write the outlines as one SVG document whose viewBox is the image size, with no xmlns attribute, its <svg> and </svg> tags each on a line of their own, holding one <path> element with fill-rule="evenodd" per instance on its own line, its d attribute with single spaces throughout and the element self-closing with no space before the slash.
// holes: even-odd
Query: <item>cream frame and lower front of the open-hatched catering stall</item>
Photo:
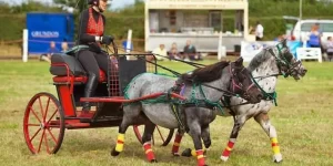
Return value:
<svg viewBox="0 0 333 166">
<path fill-rule="evenodd" d="M 242 40 L 254 41 L 254 35 L 249 34 L 249 2 L 248 0 L 147 0 L 145 2 L 145 51 L 152 51 L 160 43 L 164 43 L 167 49 L 171 46 L 173 42 L 176 42 L 179 50 L 185 44 L 186 40 L 192 40 L 192 43 L 196 46 L 199 52 L 218 52 L 219 33 L 208 34 L 208 33 L 196 33 L 196 34 L 185 34 L 185 33 L 169 33 L 169 32 L 152 32 L 151 23 L 152 15 L 151 12 L 158 12 L 158 19 L 154 21 L 163 21 L 170 11 L 188 11 L 188 10 L 208 10 L 208 11 L 223 11 L 223 10 L 235 10 L 235 19 L 242 20 L 243 23 L 243 34 L 230 34 L 223 33 L 222 41 L 223 45 L 226 46 L 228 51 L 233 50 L 234 44 L 240 44 Z M 161 13 L 167 12 L 165 17 Z M 221 15 L 222 17 L 222 15 Z M 163 19 L 161 19 L 163 18 Z M 168 18 L 167 18 L 168 19 Z M 180 20 L 182 21 L 182 20 Z M 221 21 L 223 24 L 223 21 Z"/>
</svg>

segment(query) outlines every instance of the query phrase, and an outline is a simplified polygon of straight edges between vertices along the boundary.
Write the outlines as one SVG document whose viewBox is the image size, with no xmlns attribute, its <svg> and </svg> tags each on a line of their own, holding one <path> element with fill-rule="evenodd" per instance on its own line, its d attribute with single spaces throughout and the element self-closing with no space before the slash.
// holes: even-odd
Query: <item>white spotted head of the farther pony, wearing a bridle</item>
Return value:
<svg viewBox="0 0 333 166">
<path fill-rule="evenodd" d="M 295 80 L 300 80 L 305 75 L 307 70 L 303 66 L 301 61 L 297 61 L 294 55 L 290 52 L 286 40 L 276 44 L 278 54 L 274 54 L 280 73 L 285 77 L 289 75 L 293 76 Z"/>
</svg>

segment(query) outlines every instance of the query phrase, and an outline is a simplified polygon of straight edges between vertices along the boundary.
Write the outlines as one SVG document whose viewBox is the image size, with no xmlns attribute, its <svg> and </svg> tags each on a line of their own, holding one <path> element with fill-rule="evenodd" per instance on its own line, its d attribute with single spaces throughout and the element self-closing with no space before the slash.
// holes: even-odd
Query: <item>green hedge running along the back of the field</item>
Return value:
<svg viewBox="0 0 333 166">
<path fill-rule="evenodd" d="M 333 19 L 333 3 L 320 3 L 315 0 L 303 1 L 303 19 Z M 21 31 L 26 27 L 24 13 L 29 12 L 30 9 L 57 11 L 57 9 L 48 7 L 28 7 L 12 10 L 0 3 L 0 41 L 21 39 Z M 20 11 L 23 11 L 23 13 L 17 13 Z M 233 31 L 234 17 L 232 12 L 225 13 L 223 30 Z M 286 21 L 283 20 L 283 15 L 299 15 L 299 0 L 249 0 L 249 25 L 255 27 L 255 22 L 260 21 L 265 29 L 264 39 L 272 40 L 285 33 Z M 108 20 L 105 33 L 113 34 L 117 39 L 123 39 L 127 37 L 128 30 L 132 29 L 133 38 L 144 39 L 143 2 L 137 2 L 137 4 L 119 11 L 105 12 L 105 17 Z M 78 14 L 75 14 L 75 23 L 78 23 Z"/>
</svg>

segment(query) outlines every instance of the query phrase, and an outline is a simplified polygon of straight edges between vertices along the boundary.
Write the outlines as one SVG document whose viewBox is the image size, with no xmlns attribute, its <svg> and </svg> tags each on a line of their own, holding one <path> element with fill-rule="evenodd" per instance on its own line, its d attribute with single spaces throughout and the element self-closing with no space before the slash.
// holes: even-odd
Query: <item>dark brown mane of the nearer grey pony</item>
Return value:
<svg viewBox="0 0 333 166">
<path fill-rule="evenodd" d="M 228 61 L 221 61 L 204 68 L 195 69 L 191 74 L 189 73 L 182 74 L 180 79 L 184 83 L 212 82 L 221 77 L 222 70 L 229 64 L 230 62 Z"/>
</svg>

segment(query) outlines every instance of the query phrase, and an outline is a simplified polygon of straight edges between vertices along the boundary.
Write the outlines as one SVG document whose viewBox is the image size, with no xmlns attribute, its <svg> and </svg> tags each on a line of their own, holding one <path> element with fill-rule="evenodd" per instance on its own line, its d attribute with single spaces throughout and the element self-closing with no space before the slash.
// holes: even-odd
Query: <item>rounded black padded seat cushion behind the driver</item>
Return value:
<svg viewBox="0 0 333 166">
<path fill-rule="evenodd" d="M 74 56 L 62 53 L 56 53 L 51 56 L 50 73 L 58 76 L 65 76 L 67 68 L 64 65 L 58 66 L 58 64 L 67 64 L 71 75 L 85 75 L 85 71 L 83 70 L 81 63 Z"/>
</svg>

